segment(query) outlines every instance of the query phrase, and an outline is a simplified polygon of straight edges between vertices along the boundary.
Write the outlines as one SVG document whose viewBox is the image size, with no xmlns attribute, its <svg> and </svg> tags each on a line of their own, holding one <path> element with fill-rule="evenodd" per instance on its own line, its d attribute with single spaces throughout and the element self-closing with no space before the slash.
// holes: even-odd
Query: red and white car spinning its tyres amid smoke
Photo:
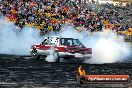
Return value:
<svg viewBox="0 0 132 88">
<path fill-rule="evenodd" d="M 53 36 L 46 38 L 41 44 L 31 46 L 31 56 L 34 59 L 41 56 L 53 55 L 55 62 L 60 58 L 89 59 L 92 56 L 92 49 L 86 48 L 78 39 Z"/>
</svg>

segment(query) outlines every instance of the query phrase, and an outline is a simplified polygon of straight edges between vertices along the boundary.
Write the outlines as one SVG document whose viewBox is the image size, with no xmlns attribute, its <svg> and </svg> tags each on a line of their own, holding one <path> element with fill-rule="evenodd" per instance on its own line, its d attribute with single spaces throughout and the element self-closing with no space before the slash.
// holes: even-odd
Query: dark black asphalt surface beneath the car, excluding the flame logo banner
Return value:
<svg viewBox="0 0 132 88">
<path fill-rule="evenodd" d="M 132 81 L 125 84 L 78 85 L 76 72 L 80 65 L 87 74 L 132 75 L 132 61 L 113 64 L 48 63 L 30 57 L 0 55 L 0 88 L 132 88 Z"/>
</svg>

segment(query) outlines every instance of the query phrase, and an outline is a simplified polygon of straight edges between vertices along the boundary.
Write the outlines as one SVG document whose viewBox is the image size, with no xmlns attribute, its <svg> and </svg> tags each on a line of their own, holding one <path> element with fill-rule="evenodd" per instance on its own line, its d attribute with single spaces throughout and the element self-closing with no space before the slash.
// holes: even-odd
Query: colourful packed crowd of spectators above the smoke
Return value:
<svg viewBox="0 0 132 88">
<path fill-rule="evenodd" d="M 34 27 L 42 34 L 58 32 L 67 23 L 78 31 L 100 31 L 103 27 L 116 32 L 132 31 L 131 4 L 114 6 L 107 3 L 98 7 L 103 9 L 96 11 L 87 4 L 71 0 L 1 0 L 0 15 L 20 28 Z"/>
</svg>

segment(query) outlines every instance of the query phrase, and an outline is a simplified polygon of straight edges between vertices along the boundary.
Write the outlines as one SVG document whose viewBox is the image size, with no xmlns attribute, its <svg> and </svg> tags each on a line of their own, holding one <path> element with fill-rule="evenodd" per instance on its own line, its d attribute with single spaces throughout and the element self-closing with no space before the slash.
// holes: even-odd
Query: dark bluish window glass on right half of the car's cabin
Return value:
<svg viewBox="0 0 132 88">
<path fill-rule="evenodd" d="M 61 45 L 84 46 L 78 39 L 73 39 L 73 38 L 61 38 Z"/>
</svg>

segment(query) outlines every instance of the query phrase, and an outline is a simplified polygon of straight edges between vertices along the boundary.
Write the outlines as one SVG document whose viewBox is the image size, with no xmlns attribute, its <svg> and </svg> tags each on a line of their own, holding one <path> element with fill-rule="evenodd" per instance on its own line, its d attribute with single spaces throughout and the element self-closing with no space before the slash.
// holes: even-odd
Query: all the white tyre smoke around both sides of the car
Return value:
<svg viewBox="0 0 132 88">
<path fill-rule="evenodd" d="M 18 27 L 13 23 L 0 19 L 0 54 L 29 55 L 31 45 L 39 44 L 44 39 L 40 37 L 36 29 L 30 27 L 25 27 L 21 31 L 17 29 Z M 56 34 L 50 33 L 45 36 L 53 35 Z M 73 26 L 64 26 L 58 35 L 77 38 L 86 47 L 92 48 L 92 58 L 85 63 L 113 63 L 132 56 L 131 46 L 124 42 L 123 37 L 108 30 L 96 33 L 88 31 L 79 33 Z M 51 54 L 46 60 L 54 62 L 55 59 Z"/>
</svg>

